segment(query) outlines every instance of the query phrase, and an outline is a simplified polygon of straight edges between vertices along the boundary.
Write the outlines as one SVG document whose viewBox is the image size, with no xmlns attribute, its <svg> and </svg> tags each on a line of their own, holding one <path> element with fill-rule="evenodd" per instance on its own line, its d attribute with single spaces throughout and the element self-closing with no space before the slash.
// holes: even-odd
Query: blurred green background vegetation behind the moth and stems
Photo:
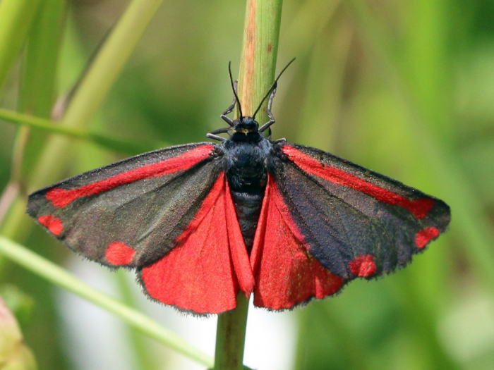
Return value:
<svg viewBox="0 0 494 370">
<path fill-rule="evenodd" d="M 62 1 L 40 2 L 48 10 L 44 18 L 34 15 L 31 44 L 10 69 L 0 106 L 48 117 L 49 98 L 61 101 L 71 90 L 128 2 L 72 0 L 58 10 Z M 297 60 L 279 82 L 273 137 L 350 159 L 452 208 L 450 231 L 403 271 L 356 281 L 338 297 L 285 315 L 297 326 L 286 353 L 292 368 L 494 369 L 494 2 L 285 0 L 283 6 L 278 64 Z M 59 23 L 48 21 L 50 11 Z M 227 63 L 238 70 L 244 15 L 243 1 L 164 1 L 88 128 L 145 145 L 203 141 L 208 130 L 223 127 L 219 113 L 231 101 Z M 40 30 L 61 37 L 51 71 L 26 67 Z M 39 103 L 40 90 L 30 91 L 29 82 L 50 74 L 56 94 L 43 92 L 48 103 Z M 15 125 L 0 122 L 0 189 L 16 163 L 16 135 Z M 68 142 L 50 162 L 56 172 L 41 176 L 39 186 L 123 156 Z M 28 191 L 35 190 L 30 178 L 50 143 L 32 131 L 20 175 Z M 11 218 L 4 218 L 3 235 L 58 264 L 71 258 L 28 218 Z M 28 302 L 13 306 L 40 369 L 82 369 L 64 346 L 70 331 L 61 316 L 70 307 L 59 292 L 9 261 L 0 269 L 1 284 L 25 295 L 13 301 Z M 131 302 L 126 279 L 109 276 Z M 147 361 L 162 347 L 126 338 L 126 345 L 112 346 L 114 356 L 130 348 L 138 369 L 175 369 Z M 255 359 L 249 366 L 266 369 Z"/>
</svg>

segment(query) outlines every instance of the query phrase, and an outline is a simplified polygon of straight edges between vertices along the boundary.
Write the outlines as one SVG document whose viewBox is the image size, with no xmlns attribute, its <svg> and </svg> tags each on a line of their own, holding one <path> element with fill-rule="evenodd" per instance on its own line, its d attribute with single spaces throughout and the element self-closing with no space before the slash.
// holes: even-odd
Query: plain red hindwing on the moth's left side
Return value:
<svg viewBox="0 0 494 370">
<path fill-rule="evenodd" d="M 225 183 L 222 173 L 176 239 L 179 245 L 143 269 L 145 288 L 155 299 L 194 312 L 219 313 L 236 307 L 239 286 L 253 285 L 252 272 L 251 282 L 246 276 L 250 265 L 243 238 L 231 242 L 240 226 L 236 217 L 235 222 L 228 219 L 231 195 Z M 239 257 L 241 248 L 245 256 Z"/>
</svg>

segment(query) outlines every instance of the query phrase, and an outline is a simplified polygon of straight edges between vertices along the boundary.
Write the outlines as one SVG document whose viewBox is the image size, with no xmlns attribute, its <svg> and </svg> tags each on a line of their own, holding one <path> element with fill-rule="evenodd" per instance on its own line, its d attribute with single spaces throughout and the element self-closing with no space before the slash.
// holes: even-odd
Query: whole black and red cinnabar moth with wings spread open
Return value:
<svg viewBox="0 0 494 370">
<path fill-rule="evenodd" d="M 230 73 L 229 127 L 207 134 L 219 144 L 159 149 L 76 175 L 33 192 L 28 214 L 88 259 L 135 268 L 152 299 L 195 313 L 234 309 L 239 290 L 258 307 L 288 309 L 406 265 L 446 230 L 450 207 L 332 154 L 265 137 L 278 78 L 261 127 L 263 102 L 243 116 Z"/>
</svg>

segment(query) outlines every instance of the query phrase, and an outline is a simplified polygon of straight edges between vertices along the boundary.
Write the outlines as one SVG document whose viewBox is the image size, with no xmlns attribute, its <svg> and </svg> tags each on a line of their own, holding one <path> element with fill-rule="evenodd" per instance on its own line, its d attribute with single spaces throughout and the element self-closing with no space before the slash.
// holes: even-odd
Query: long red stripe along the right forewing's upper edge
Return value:
<svg viewBox="0 0 494 370">
<path fill-rule="evenodd" d="M 367 180 L 363 180 L 356 175 L 351 175 L 351 173 L 347 173 L 339 168 L 336 168 L 335 166 L 327 166 L 322 164 L 317 159 L 308 156 L 299 149 L 289 145 L 284 145 L 282 150 L 285 154 L 287 154 L 287 156 L 289 156 L 289 159 L 302 168 L 303 171 L 319 176 L 320 178 L 324 178 L 332 183 L 351 187 L 359 192 L 371 195 L 380 202 L 402 206 L 408 209 L 416 218 L 426 217 L 430 209 L 434 206 L 433 199 L 407 199 L 406 197 L 402 197 L 402 195 L 384 189 L 378 185 L 374 185 Z"/>
</svg>

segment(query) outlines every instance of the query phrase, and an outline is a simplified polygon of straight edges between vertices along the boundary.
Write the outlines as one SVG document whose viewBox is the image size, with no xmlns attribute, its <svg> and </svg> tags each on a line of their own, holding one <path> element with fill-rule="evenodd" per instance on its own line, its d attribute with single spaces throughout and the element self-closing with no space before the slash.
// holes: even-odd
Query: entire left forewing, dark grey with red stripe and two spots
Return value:
<svg viewBox="0 0 494 370">
<path fill-rule="evenodd" d="M 211 143 L 159 149 L 32 193 L 28 214 L 107 266 L 143 266 L 169 252 L 220 168 Z"/>
</svg>

